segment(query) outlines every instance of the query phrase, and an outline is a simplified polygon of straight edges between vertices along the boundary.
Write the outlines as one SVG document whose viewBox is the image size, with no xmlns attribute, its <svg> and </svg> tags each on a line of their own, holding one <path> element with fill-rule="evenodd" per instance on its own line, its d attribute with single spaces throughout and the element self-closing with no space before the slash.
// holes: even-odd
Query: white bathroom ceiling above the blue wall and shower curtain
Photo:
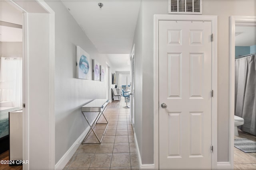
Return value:
<svg viewBox="0 0 256 170">
<path fill-rule="evenodd" d="M 236 46 L 256 45 L 256 25 L 236 26 Z"/>
</svg>

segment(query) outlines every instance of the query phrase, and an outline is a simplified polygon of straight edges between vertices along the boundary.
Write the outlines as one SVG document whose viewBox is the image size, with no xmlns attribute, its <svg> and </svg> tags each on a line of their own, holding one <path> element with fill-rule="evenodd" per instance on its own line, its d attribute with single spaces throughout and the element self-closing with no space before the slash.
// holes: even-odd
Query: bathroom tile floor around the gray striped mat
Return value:
<svg viewBox="0 0 256 170">
<path fill-rule="evenodd" d="M 256 141 L 256 137 L 238 130 L 239 136 Z M 256 170 L 256 153 L 244 153 L 234 147 L 234 170 Z"/>
</svg>

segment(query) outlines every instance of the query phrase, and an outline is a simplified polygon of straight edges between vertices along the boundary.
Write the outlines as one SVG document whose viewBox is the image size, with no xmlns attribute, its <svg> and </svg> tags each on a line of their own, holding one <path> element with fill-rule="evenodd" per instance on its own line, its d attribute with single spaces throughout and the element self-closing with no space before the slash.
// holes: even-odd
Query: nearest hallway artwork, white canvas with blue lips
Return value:
<svg viewBox="0 0 256 170">
<path fill-rule="evenodd" d="M 76 78 L 90 79 L 90 55 L 76 46 Z"/>
</svg>

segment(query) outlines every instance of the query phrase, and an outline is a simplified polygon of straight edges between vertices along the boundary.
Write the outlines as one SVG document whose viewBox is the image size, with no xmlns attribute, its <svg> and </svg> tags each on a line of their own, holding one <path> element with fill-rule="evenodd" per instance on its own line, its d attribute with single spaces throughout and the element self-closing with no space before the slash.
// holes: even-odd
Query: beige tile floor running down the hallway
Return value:
<svg viewBox="0 0 256 170">
<path fill-rule="evenodd" d="M 122 100 L 121 100 L 122 102 Z M 130 125 L 130 109 L 122 108 L 124 102 L 112 102 L 104 111 L 108 128 L 101 144 L 84 144 L 76 150 L 64 170 L 138 170 L 138 156 L 134 132 Z M 113 106 L 114 108 L 111 108 Z M 120 108 L 115 108 L 120 106 Z M 101 116 L 98 122 L 104 122 Z M 102 137 L 106 125 L 97 124 L 94 129 Z M 91 133 L 86 142 L 95 142 Z"/>
</svg>

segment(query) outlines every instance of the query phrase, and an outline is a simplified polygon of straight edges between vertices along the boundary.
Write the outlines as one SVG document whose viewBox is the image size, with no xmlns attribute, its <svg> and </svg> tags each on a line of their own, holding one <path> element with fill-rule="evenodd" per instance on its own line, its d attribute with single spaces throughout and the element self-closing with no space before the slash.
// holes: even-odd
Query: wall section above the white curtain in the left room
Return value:
<svg viewBox="0 0 256 170">
<path fill-rule="evenodd" d="M 22 57 L 22 42 L 1 42 L 1 57 Z"/>
</svg>

